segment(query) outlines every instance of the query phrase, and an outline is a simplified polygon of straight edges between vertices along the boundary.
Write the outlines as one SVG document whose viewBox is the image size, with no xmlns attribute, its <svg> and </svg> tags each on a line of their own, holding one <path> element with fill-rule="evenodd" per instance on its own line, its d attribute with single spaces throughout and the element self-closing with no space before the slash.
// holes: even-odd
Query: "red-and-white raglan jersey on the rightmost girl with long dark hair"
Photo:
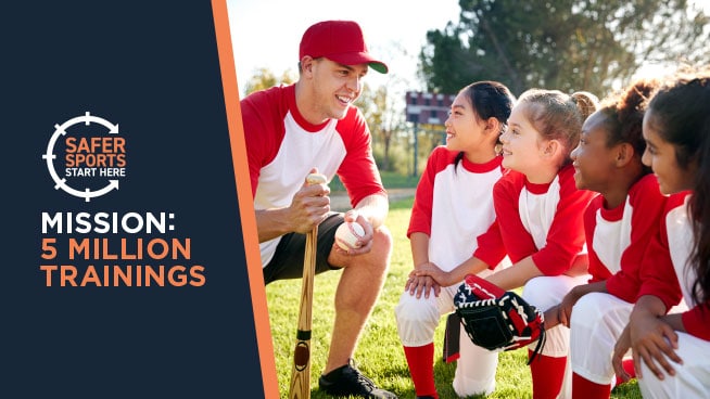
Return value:
<svg viewBox="0 0 710 399">
<path fill-rule="evenodd" d="M 686 332 L 710 340 L 710 303 L 696 304 L 693 299 L 697 274 L 688 265 L 694 250 L 693 222 L 687 213 L 690 195 L 690 191 L 684 191 L 668 197 L 660 232 L 651 242 L 642 267 L 638 296 L 655 295 L 667 309 L 677 305 L 682 297 L 689 308 L 682 316 Z"/>
</svg>

